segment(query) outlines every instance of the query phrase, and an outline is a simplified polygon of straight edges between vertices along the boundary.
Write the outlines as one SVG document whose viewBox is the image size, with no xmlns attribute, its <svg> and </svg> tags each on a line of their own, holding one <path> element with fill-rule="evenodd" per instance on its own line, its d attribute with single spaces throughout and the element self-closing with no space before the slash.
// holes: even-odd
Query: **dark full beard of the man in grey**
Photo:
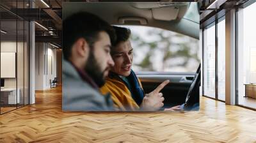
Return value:
<svg viewBox="0 0 256 143">
<path fill-rule="evenodd" d="M 95 56 L 92 52 L 92 50 L 89 53 L 88 61 L 86 63 L 86 66 L 84 68 L 85 72 L 92 77 L 93 81 L 97 84 L 97 86 L 102 87 L 105 84 L 104 79 L 104 71 L 101 71 L 100 65 L 95 59 Z"/>
</svg>

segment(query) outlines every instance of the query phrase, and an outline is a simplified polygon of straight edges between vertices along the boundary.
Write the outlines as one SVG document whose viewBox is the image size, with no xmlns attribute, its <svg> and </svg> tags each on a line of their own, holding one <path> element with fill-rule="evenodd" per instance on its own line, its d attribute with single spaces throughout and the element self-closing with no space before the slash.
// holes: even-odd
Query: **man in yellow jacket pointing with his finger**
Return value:
<svg viewBox="0 0 256 143">
<path fill-rule="evenodd" d="M 169 80 L 164 81 L 154 91 L 144 94 L 140 80 L 132 71 L 132 45 L 129 40 L 131 31 L 125 27 L 113 26 L 116 42 L 113 43 L 111 56 L 115 66 L 111 68 L 102 93 L 111 93 L 117 110 L 159 110 L 163 107 L 163 94 L 160 93 Z"/>
</svg>

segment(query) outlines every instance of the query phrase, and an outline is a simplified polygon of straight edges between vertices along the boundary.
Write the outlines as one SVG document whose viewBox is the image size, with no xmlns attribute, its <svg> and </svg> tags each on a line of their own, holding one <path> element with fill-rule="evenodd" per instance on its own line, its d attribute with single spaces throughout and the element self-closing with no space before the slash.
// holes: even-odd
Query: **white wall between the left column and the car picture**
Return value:
<svg viewBox="0 0 256 143">
<path fill-rule="evenodd" d="M 50 79 L 56 77 L 56 49 L 53 48 L 49 43 L 36 43 L 36 90 L 49 89 Z"/>
</svg>

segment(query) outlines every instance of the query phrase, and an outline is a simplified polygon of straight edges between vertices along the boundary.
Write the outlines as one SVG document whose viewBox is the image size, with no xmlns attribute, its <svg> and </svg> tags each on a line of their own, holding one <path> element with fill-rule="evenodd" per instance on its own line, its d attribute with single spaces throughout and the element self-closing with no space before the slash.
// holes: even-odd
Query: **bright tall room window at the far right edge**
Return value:
<svg viewBox="0 0 256 143">
<path fill-rule="evenodd" d="M 238 15 L 237 87 L 238 104 L 256 109 L 256 3 Z"/>
</svg>

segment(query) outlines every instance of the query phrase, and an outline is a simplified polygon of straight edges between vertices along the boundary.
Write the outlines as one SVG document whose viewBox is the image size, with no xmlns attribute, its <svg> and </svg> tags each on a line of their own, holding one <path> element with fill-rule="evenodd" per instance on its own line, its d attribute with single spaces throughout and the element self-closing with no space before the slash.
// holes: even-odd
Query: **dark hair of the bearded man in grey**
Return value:
<svg viewBox="0 0 256 143">
<path fill-rule="evenodd" d="M 111 44 L 115 43 L 115 30 L 108 22 L 96 15 L 87 12 L 79 12 L 63 20 L 63 56 L 68 59 L 71 56 L 72 45 L 79 38 L 84 38 L 89 47 L 93 47 L 98 40 L 100 31 L 109 34 Z"/>
</svg>

